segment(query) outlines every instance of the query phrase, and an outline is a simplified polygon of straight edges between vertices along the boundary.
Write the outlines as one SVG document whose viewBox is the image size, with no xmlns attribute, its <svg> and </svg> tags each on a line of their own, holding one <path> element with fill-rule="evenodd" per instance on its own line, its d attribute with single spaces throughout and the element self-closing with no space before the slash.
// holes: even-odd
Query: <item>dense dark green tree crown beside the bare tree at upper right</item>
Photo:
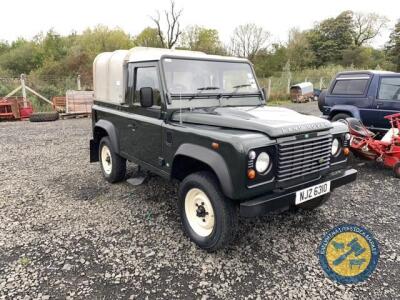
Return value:
<svg viewBox="0 0 400 300">
<path fill-rule="evenodd" d="M 329 18 L 308 32 L 310 48 L 316 58 L 316 66 L 338 63 L 342 51 L 353 45 L 353 13 L 344 11 L 336 18 Z"/>
</svg>

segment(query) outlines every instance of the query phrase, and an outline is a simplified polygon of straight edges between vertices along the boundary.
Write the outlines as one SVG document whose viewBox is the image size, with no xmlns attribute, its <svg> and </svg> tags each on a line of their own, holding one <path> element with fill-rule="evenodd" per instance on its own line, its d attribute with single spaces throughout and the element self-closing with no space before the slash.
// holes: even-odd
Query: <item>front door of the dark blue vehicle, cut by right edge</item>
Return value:
<svg viewBox="0 0 400 300">
<path fill-rule="evenodd" d="M 384 75 L 380 78 L 376 108 L 379 113 L 377 127 L 389 128 L 390 123 L 384 117 L 400 112 L 400 75 Z"/>
</svg>

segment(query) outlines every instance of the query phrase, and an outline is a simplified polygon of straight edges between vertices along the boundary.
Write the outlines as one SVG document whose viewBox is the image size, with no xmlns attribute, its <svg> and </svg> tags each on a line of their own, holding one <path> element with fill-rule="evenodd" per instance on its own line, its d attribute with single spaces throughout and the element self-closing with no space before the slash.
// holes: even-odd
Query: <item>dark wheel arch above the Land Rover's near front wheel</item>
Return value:
<svg viewBox="0 0 400 300">
<path fill-rule="evenodd" d="M 183 144 L 178 148 L 171 168 L 172 179 L 183 180 L 193 172 L 204 170 L 213 172 L 224 195 L 232 198 L 231 175 L 225 160 L 219 153 L 193 144 Z"/>
</svg>

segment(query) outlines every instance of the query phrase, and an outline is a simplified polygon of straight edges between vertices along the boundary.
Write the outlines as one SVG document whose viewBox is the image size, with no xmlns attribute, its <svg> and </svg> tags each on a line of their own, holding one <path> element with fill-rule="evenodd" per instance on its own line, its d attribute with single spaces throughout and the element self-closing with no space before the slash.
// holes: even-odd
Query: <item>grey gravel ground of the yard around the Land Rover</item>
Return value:
<svg viewBox="0 0 400 300">
<path fill-rule="evenodd" d="M 320 209 L 241 219 L 238 240 L 209 254 L 181 231 L 175 185 L 108 184 L 88 162 L 90 136 L 88 119 L 0 123 L 0 299 L 399 297 L 400 181 L 390 170 L 355 160 L 358 180 Z M 339 285 L 321 270 L 321 239 L 342 223 L 379 242 L 366 282 Z"/>
</svg>

